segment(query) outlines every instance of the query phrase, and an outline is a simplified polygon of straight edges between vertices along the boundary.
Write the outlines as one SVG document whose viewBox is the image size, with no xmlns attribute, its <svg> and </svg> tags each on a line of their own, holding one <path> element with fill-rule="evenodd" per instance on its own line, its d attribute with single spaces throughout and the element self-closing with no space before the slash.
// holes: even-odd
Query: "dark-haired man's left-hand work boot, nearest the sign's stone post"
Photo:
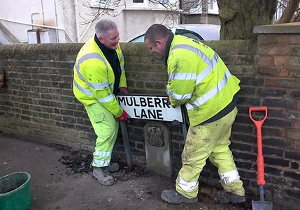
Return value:
<svg viewBox="0 0 300 210">
<path fill-rule="evenodd" d="M 162 191 L 162 200 L 168 202 L 169 204 L 181 204 L 187 203 L 192 204 L 198 201 L 198 197 L 195 198 L 187 198 L 180 193 L 178 193 L 175 189 L 172 190 L 164 190 Z"/>
</svg>

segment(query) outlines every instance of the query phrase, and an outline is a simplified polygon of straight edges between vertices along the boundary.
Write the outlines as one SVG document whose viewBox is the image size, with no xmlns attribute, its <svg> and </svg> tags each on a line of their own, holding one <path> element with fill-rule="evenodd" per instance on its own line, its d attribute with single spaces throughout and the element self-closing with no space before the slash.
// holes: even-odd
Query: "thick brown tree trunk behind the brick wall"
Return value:
<svg viewBox="0 0 300 210">
<path fill-rule="evenodd" d="M 256 39 L 253 28 L 271 24 L 277 0 L 217 0 L 220 39 Z"/>
</svg>

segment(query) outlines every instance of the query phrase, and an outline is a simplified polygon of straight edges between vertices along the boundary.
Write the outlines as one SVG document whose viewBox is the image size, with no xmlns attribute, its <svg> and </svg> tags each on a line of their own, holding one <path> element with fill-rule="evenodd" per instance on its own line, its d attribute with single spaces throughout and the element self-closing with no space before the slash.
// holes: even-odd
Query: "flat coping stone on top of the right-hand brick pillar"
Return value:
<svg viewBox="0 0 300 210">
<path fill-rule="evenodd" d="M 300 33 L 300 22 L 256 26 L 253 33 Z"/>
</svg>

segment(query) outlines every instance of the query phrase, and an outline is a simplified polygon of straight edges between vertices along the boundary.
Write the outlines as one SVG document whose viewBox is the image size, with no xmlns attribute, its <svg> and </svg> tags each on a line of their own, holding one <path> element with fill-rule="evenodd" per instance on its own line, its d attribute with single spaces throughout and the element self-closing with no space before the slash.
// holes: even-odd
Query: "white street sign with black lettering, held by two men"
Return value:
<svg viewBox="0 0 300 210">
<path fill-rule="evenodd" d="M 178 121 L 183 123 L 181 107 L 169 105 L 162 96 L 117 96 L 117 102 L 132 119 Z"/>
</svg>

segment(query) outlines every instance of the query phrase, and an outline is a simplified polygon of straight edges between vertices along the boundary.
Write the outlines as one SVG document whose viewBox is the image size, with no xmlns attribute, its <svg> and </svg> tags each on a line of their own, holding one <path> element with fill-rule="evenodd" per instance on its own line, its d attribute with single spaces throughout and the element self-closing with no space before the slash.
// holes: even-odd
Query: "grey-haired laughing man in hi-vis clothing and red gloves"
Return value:
<svg viewBox="0 0 300 210">
<path fill-rule="evenodd" d="M 94 38 L 83 45 L 73 68 L 73 93 L 85 106 L 97 135 L 92 161 L 93 176 L 103 186 L 115 179 L 110 172 L 119 170 L 110 163 L 119 129 L 118 121 L 127 121 L 128 114 L 117 103 L 117 93 L 129 93 L 124 71 L 124 56 L 119 45 L 117 24 L 100 20 Z"/>
</svg>

